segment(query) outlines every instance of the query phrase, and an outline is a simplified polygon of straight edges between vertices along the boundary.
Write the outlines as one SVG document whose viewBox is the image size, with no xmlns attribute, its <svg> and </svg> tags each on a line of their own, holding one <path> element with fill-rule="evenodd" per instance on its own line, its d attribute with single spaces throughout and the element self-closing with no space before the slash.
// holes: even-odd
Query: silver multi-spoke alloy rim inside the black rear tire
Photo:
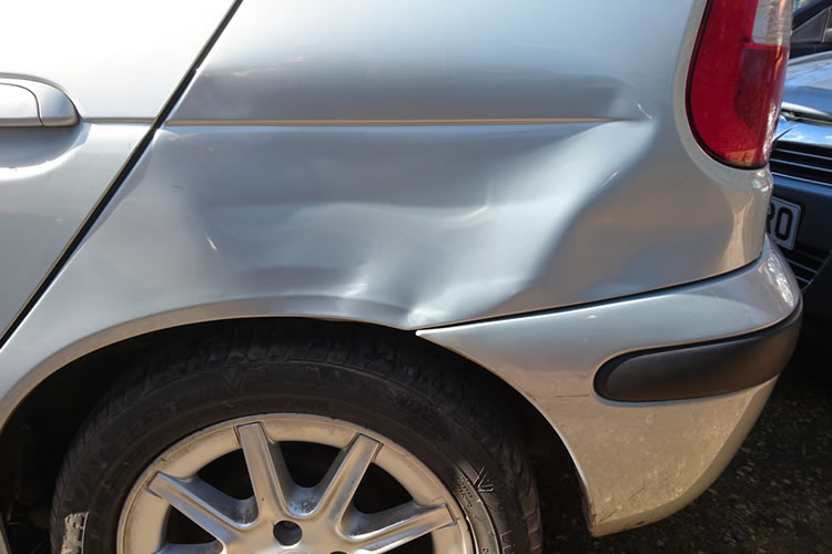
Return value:
<svg viewBox="0 0 832 554">
<path fill-rule="evenodd" d="M 362 511 L 378 504 L 394 507 Z M 231 419 L 158 454 L 124 500 L 115 538 L 126 554 L 476 553 L 454 494 L 416 455 L 304 413 Z"/>
</svg>

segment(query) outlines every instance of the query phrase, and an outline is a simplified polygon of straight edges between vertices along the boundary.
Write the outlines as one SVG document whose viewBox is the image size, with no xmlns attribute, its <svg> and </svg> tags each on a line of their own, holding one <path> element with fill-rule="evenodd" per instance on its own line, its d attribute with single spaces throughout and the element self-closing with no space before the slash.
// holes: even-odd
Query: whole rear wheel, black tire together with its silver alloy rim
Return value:
<svg viewBox="0 0 832 554">
<path fill-rule="evenodd" d="M 316 480 L 331 479 L 333 471 L 337 474 L 334 469 L 338 460 L 343 462 L 344 459 L 351 459 L 352 450 L 348 449 L 354 448 L 359 439 L 377 443 L 378 447 L 373 447 L 378 449 L 377 455 L 361 478 L 361 484 L 356 485 L 365 504 L 376 500 L 382 504 L 392 502 L 387 499 L 392 486 L 403 486 L 406 490 L 407 486 L 403 483 L 428 483 L 415 486 L 418 491 L 405 491 L 412 503 L 408 505 L 422 505 L 420 501 L 416 502 L 417 495 L 436 483 L 436 492 L 430 494 L 449 500 L 446 504 L 443 501 L 430 502 L 436 506 L 445 506 L 450 512 L 450 515 L 443 512 L 442 516 L 449 517 L 450 523 L 446 522 L 438 531 L 433 529 L 418 540 L 408 538 L 404 545 L 389 552 L 438 552 L 437 544 L 447 540 L 449 542 L 443 544 L 454 544 L 453 550 L 459 552 L 539 553 L 542 533 L 537 490 L 517 423 L 488 387 L 473 386 L 469 379 L 464 379 L 465 371 L 457 371 L 458 367 L 449 363 L 451 361 L 456 360 L 415 348 L 412 339 L 402 340 L 395 334 L 368 334 L 361 327 L 317 321 L 267 320 L 209 325 L 180 337 L 165 348 L 154 348 L 152 355 L 136 362 L 136 367 L 102 399 L 69 449 L 57 481 L 52 504 L 53 552 L 133 554 L 146 545 L 140 546 L 144 538 L 131 537 L 155 536 L 154 533 L 160 535 L 159 544 L 182 542 L 181 536 L 185 535 L 187 541 L 204 542 L 194 538 L 195 531 L 183 531 L 187 525 L 193 527 L 191 521 L 179 523 L 181 529 L 172 531 L 171 521 L 181 521 L 182 517 L 180 510 L 170 507 L 171 502 L 164 504 L 170 516 L 162 517 L 156 512 L 140 511 L 142 506 L 156 506 L 155 510 L 159 510 L 160 495 L 170 501 L 165 496 L 168 493 L 159 493 L 158 490 L 162 486 L 160 483 L 163 478 L 169 479 L 165 468 L 175 463 L 181 466 L 184 463 L 171 460 L 187 460 L 191 473 L 174 475 L 164 482 L 174 483 L 171 486 L 186 488 L 192 481 L 201 482 L 203 474 L 212 468 L 216 480 L 234 481 L 236 478 L 233 475 L 245 473 L 231 461 L 233 456 L 237 456 L 250 472 L 245 479 L 252 497 L 244 501 L 243 496 L 248 493 L 236 493 L 239 499 L 234 501 L 237 502 L 234 505 L 254 502 L 257 506 L 255 511 L 262 510 L 263 514 L 267 514 L 266 501 L 263 500 L 262 505 L 257 504 L 260 500 L 255 500 L 255 496 L 260 499 L 260 490 L 253 484 L 255 480 L 248 476 L 254 475 L 251 473 L 252 464 L 260 463 L 248 463 L 250 459 L 246 456 L 253 447 L 245 450 L 237 445 L 236 453 L 215 460 L 210 456 L 197 459 L 193 453 L 202 452 L 200 449 L 207 444 L 205 437 L 214 437 L 211 433 L 225 433 L 223 437 L 227 439 L 232 437 L 229 434 L 232 431 L 229 430 L 233 430 L 233 435 L 241 445 L 246 444 L 242 434 L 244 431 L 245 437 L 252 435 L 251 433 L 265 437 L 271 452 L 268 456 L 280 452 L 277 462 L 272 459 L 274 466 L 285 461 L 292 475 L 301 470 L 293 470 L 290 465 L 287 449 L 308 449 L 303 454 L 296 454 L 298 460 L 294 462 L 294 468 L 306 471 L 304 468 L 307 466 L 328 466 L 325 478 L 321 478 L 318 472 Z M 287 421 L 300 423 L 295 425 L 286 423 Z M 355 433 L 349 442 L 352 447 L 342 445 L 345 439 L 341 439 L 342 443 L 336 441 L 329 445 L 323 444 L 328 439 L 306 441 L 304 432 L 315 437 L 329 437 L 321 431 L 329 429 L 326 425 L 337 433 Z M 352 431 L 347 431 L 351 429 Z M 273 438 L 281 433 L 288 434 L 282 435 L 283 439 Z M 331 434 L 334 437 L 337 433 Z M 251 443 L 252 439 L 245 440 Z M 318 444 L 321 441 L 323 442 Z M 317 453 L 313 455 L 310 453 L 312 451 Z M 334 461 L 321 461 L 323 452 L 334 456 Z M 381 452 L 385 452 L 385 456 Z M 285 460 L 282 461 L 283 458 Z M 389 468 L 383 466 L 382 471 L 376 471 L 375 465 L 382 464 L 382 458 L 393 461 L 385 462 Z M 408 460 L 414 459 L 413 463 L 418 466 L 416 469 L 410 468 L 413 464 L 408 465 Z M 203 462 L 205 464 L 201 466 Z M 231 465 L 217 465 L 222 463 Z M 202 469 L 199 473 L 193 473 L 197 466 Z M 231 468 L 236 468 L 237 471 L 232 471 Z M 375 471 L 374 481 L 365 486 L 371 481 L 371 470 Z M 412 476 L 408 471 L 416 476 Z M 396 481 L 397 472 L 404 476 L 396 485 L 390 485 L 389 480 L 385 481 L 387 476 L 393 476 L 393 481 Z M 270 474 L 274 474 L 274 470 Z M 427 481 L 418 481 L 423 478 Z M 204 479 L 207 482 L 209 478 Z M 311 476 L 306 475 L 304 479 L 308 481 Z M 225 493 L 223 486 L 231 485 L 221 486 L 219 481 L 211 482 L 211 486 Z M 286 490 L 314 490 L 311 489 L 313 481 L 305 484 L 295 481 L 292 486 L 296 485 L 297 489 L 286 486 Z M 301 489 L 304 486 L 306 489 Z M 181 490 L 177 491 L 171 494 L 182 494 Z M 393 496 L 402 496 L 400 490 L 396 491 L 398 492 Z M 229 492 L 227 495 L 232 496 L 232 493 Z M 276 494 L 275 499 L 278 496 Z M 317 499 L 322 505 L 325 503 L 322 500 L 324 496 L 325 493 L 321 493 Z M 396 502 L 402 502 L 403 499 L 405 496 Z M 232 505 L 225 504 L 231 502 L 226 496 L 223 496 L 222 502 L 216 502 L 215 506 L 210 506 L 212 510 L 216 507 L 216 513 L 234 512 L 225 507 Z M 349 510 L 356 507 L 357 502 L 356 493 Z M 192 510 L 190 505 L 185 507 L 185 511 Z M 385 509 L 390 506 L 379 507 Z M 372 512 L 364 507 L 362 511 L 349 513 L 361 515 Z M 342 513 L 345 512 L 342 510 Z M 248 517 L 251 524 L 254 516 L 245 517 Z M 256 517 L 260 521 L 267 516 Z M 162 527 L 159 524 L 153 526 L 152 522 L 156 520 L 168 523 Z M 221 520 L 222 517 L 215 520 L 220 522 L 217 525 L 226 525 Z M 234 521 L 234 525 L 237 525 L 239 522 Z M 310 520 L 314 521 L 316 520 Z M 274 522 L 270 520 L 268 525 Z M 297 532 L 297 537 L 302 536 L 301 530 L 306 524 L 306 520 L 302 517 L 288 523 L 281 522 L 281 525 Z M 339 529 L 347 526 L 343 521 L 338 525 Z M 277 524 L 268 526 L 274 533 L 272 538 L 278 541 L 278 545 L 284 545 L 283 550 L 277 548 L 275 552 L 286 552 L 294 544 L 292 541 L 302 540 L 291 538 L 286 542 L 287 540 L 278 537 L 277 527 Z M 203 525 L 197 531 L 207 536 L 209 541 L 217 536 L 205 534 L 205 529 L 207 527 Z M 226 527 L 211 529 L 224 533 Z M 461 531 L 451 533 L 449 530 Z M 176 533 L 180 538 L 171 541 L 171 533 Z M 254 536 L 254 532 L 246 533 L 245 537 Z M 258 533 L 256 540 L 260 541 L 265 532 Z M 344 533 L 342 530 L 336 535 L 342 536 Z M 242 534 L 227 536 L 233 541 L 243 541 L 240 538 L 243 537 Z M 303 536 L 311 537 L 312 533 Z M 332 552 L 339 553 L 348 552 L 349 544 L 353 544 L 342 547 L 332 541 L 306 547 L 312 548 L 312 552 L 332 548 Z M 246 544 L 248 546 L 230 548 L 230 552 L 255 547 L 252 546 L 254 543 Z M 306 543 L 298 544 L 298 552 L 305 552 L 302 546 Z M 381 547 L 378 552 L 387 551 Z"/>
</svg>

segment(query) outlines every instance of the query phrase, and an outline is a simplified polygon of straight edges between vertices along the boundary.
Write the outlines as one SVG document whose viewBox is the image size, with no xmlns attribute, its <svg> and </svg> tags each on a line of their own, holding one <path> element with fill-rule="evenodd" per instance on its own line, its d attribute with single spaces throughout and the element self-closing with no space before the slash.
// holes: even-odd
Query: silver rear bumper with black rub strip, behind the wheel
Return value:
<svg viewBox="0 0 832 554">
<path fill-rule="evenodd" d="M 719 278 L 419 336 L 489 368 L 541 411 L 578 469 L 589 529 L 603 535 L 670 515 L 719 476 L 791 355 L 799 305 L 767 242 L 755 263 Z M 742 363 L 714 371 L 723 356 Z M 635 366 L 640 375 L 619 380 L 630 397 L 599 393 L 605 365 L 639 357 L 649 362 Z"/>
</svg>

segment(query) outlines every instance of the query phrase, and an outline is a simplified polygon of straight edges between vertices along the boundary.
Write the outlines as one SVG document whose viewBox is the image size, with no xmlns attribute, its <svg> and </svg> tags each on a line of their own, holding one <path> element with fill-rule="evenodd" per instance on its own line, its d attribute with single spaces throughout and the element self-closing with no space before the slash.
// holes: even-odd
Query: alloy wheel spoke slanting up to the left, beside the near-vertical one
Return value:
<svg viewBox="0 0 832 554">
<path fill-rule="evenodd" d="M 226 496 L 205 481 L 199 478 L 185 481 L 159 472 L 148 489 L 221 543 L 227 545 L 240 536 L 244 522 L 234 520 L 235 512 L 241 512 L 240 501 Z"/>
</svg>

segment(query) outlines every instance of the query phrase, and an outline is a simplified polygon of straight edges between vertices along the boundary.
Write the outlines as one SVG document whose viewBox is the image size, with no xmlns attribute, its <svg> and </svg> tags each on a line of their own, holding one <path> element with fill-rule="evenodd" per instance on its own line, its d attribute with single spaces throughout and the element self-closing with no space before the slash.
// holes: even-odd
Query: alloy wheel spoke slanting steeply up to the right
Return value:
<svg viewBox="0 0 832 554">
<path fill-rule="evenodd" d="M 315 486 L 314 495 L 319 499 L 315 513 L 325 514 L 333 524 L 341 521 L 379 448 L 381 444 L 369 437 L 355 435 Z"/>
</svg>

